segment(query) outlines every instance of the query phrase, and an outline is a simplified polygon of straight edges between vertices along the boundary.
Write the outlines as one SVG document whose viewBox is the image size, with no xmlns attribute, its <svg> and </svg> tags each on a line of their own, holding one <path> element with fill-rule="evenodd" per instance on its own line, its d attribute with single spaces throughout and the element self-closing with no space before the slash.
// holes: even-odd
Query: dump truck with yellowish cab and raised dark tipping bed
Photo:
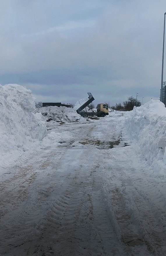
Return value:
<svg viewBox="0 0 166 256">
<path fill-rule="evenodd" d="M 97 105 L 97 112 L 94 111 L 88 111 L 86 110 L 86 107 L 94 101 L 94 98 L 91 94 L 91 92 L 88 92 L 88 100 L 80 106 L 76 111 L 78 114 L 80 114 L 82 117 L 88 117 L 88 116 L 98 116 L 98 117 L 104 117 L 105 115 L 108 115 L 108 104 L 107 103 L 99 103 Z M 85 109 L 85 110 L 84 110 Z"/>
</svg>

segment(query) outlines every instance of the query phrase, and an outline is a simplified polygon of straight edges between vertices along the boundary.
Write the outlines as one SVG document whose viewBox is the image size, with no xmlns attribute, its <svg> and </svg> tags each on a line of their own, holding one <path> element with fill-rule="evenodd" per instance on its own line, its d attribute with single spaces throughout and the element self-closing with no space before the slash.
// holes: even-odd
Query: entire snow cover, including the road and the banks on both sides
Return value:
<svg viewBox="0 0 166 256">
<path fill-rule="evenodd" d="M 163 103 L 84 119 L 0 97 L 1 255 L 166 255 Z"/>
</svg>

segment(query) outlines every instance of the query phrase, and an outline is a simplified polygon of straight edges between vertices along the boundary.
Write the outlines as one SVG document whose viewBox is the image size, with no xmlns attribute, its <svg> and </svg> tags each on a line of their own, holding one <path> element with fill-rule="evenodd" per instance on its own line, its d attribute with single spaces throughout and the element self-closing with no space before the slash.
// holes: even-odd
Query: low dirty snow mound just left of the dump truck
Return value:
<svg viewBox="0 0 166 256">
<path fill-rule="evenodd" d="M 64 106 L 48 106 L 37 108 L 35 113 L 42 113 L 46 120 L 54 120 L 61 122 L 77 122 L 79 120 L 84 120 L 73 108 L 67 108 Z"/>
</svg>

